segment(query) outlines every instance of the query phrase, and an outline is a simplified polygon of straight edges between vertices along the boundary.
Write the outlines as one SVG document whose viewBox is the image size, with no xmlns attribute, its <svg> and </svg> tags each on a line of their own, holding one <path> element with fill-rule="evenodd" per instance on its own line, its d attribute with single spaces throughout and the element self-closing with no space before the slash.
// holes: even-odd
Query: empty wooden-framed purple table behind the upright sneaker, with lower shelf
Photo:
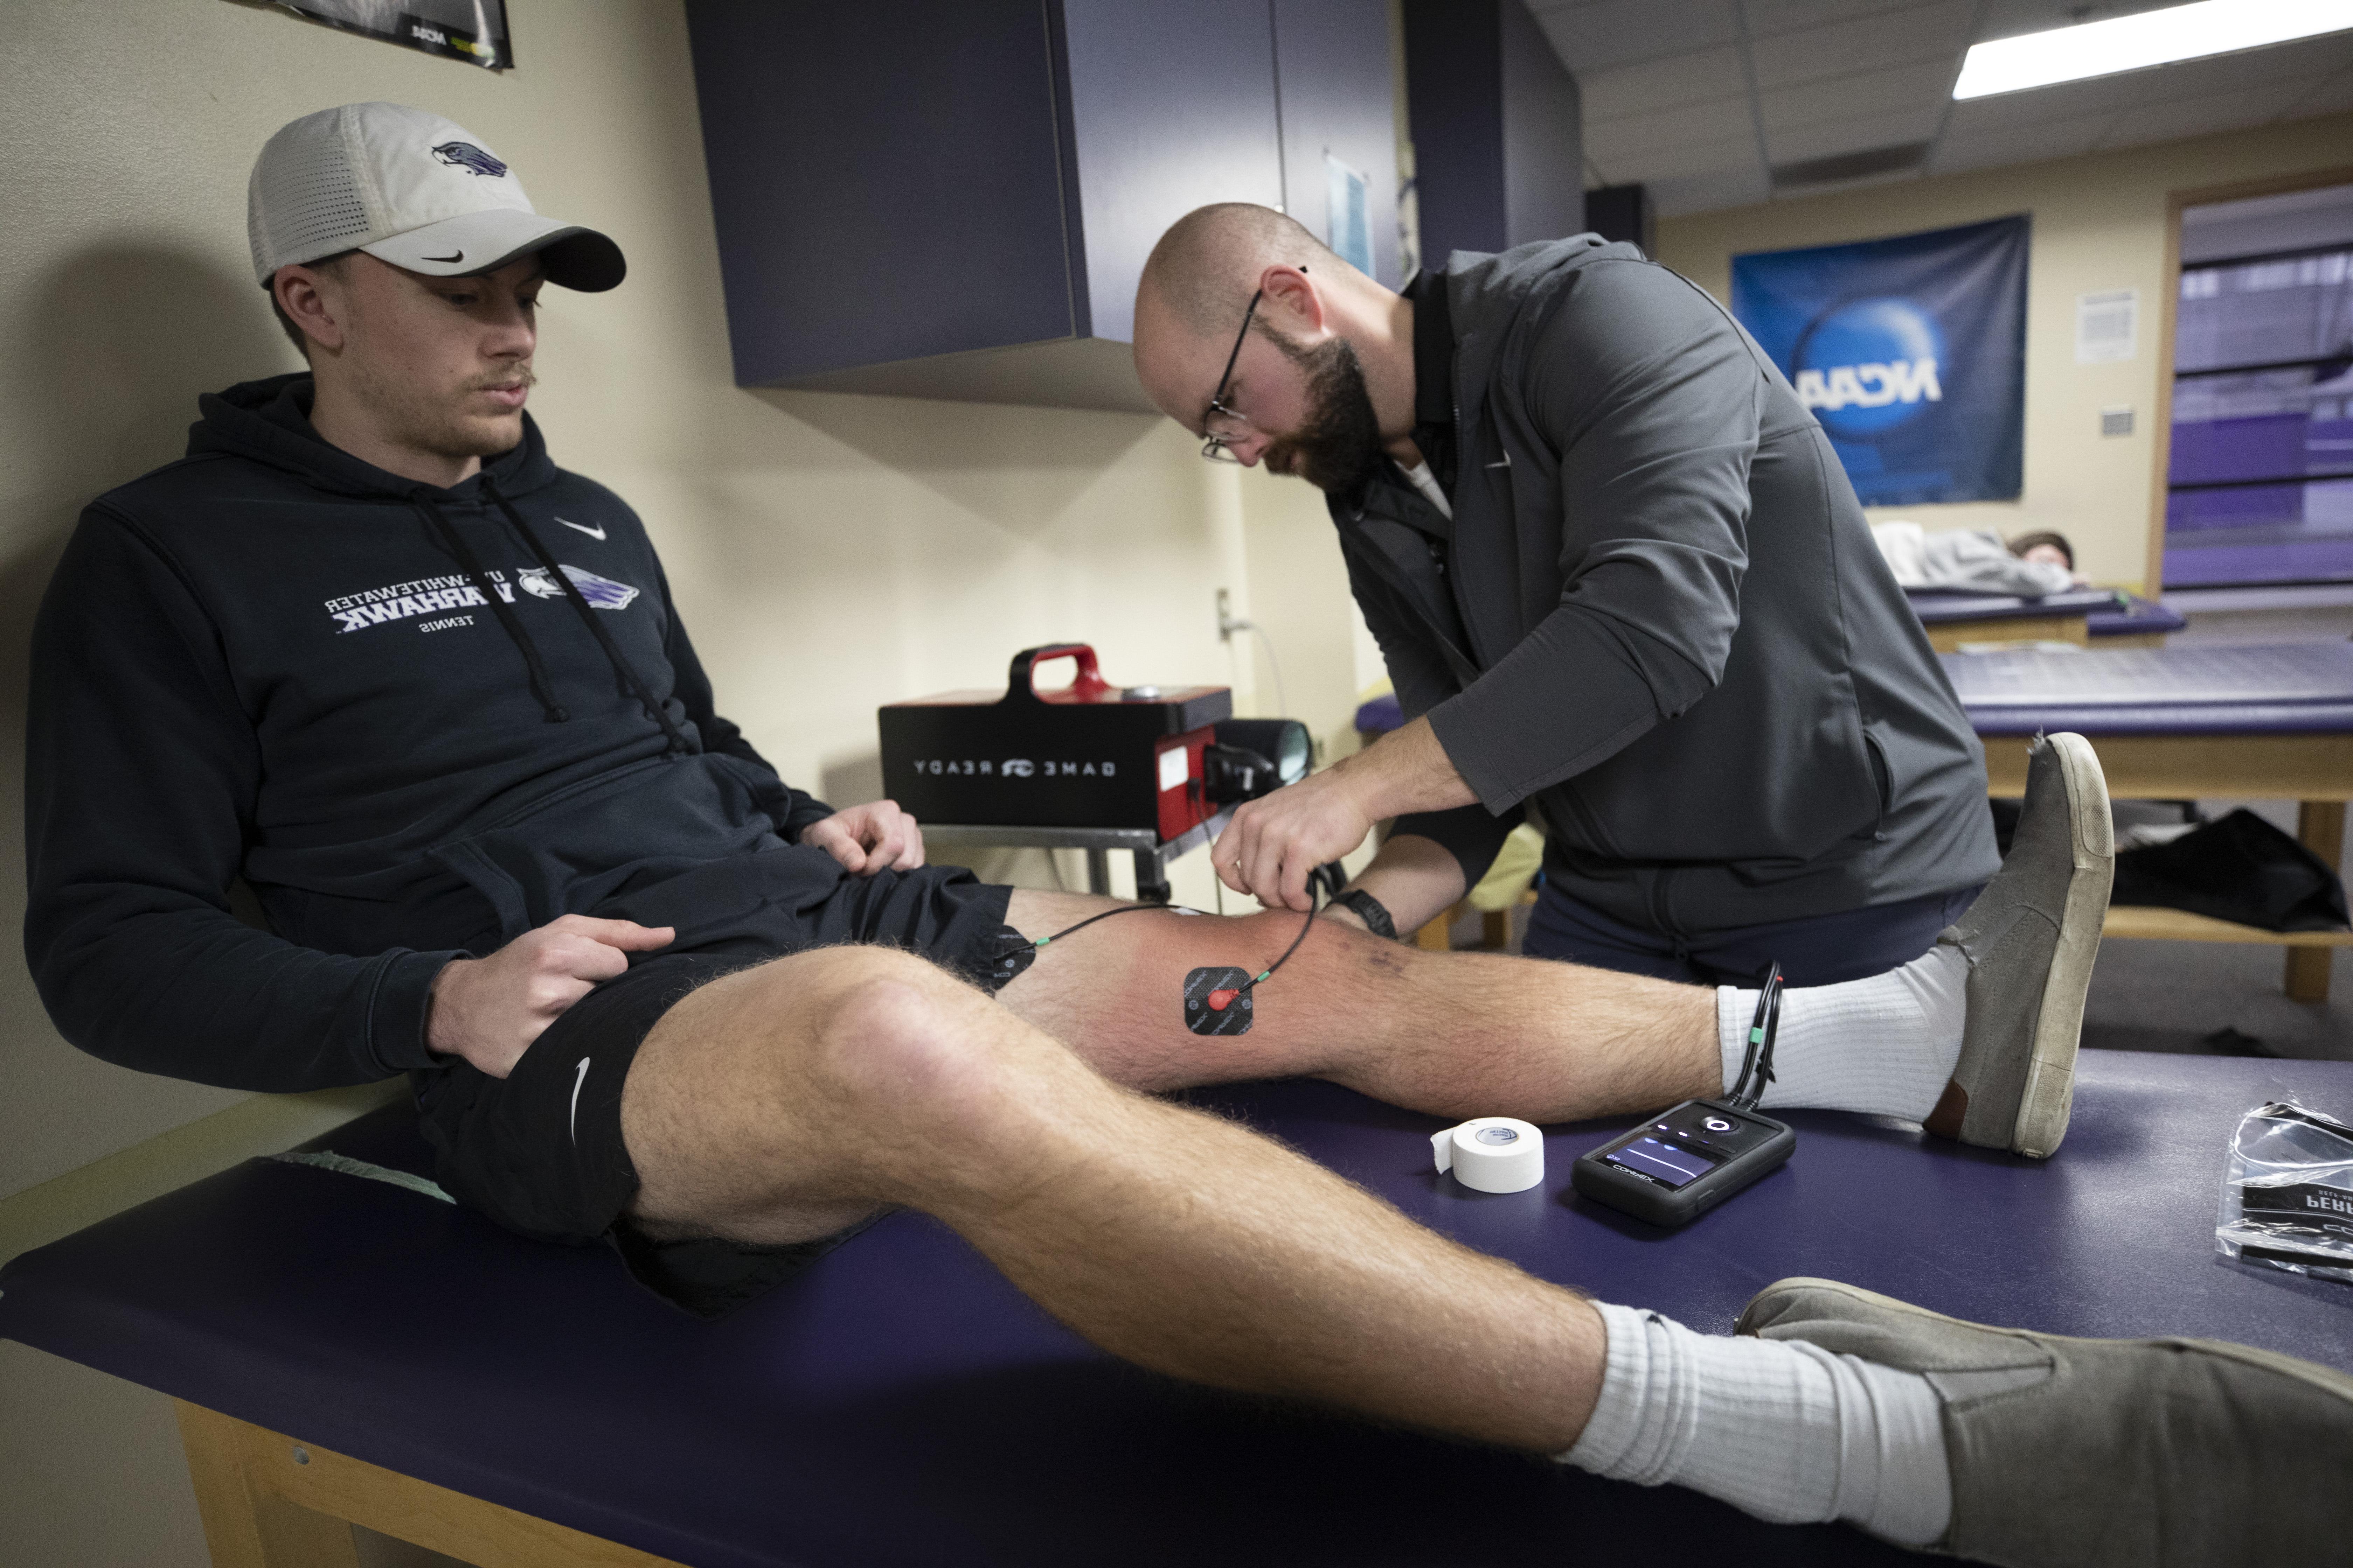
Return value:
<svg viewBox="0 0 2353 1568">
<path fill-rule="evenodd" d="M 2026 743 L 2092 741 L 2111 799 L 2294 799 L 2297 837 L 2344 856 L 2353 799 L 2353 644 L 2289 642 L 2087 654 L 1944 654 L 1986 745 L 1993 795 L 2026 792 Z M 2184 910 L 2115 905 L 2108 936 L 2287 947 L 2287 994 L 2327 1001 L 2329 950 L 2353 931 L 2261 931 Z"/>
</svg>

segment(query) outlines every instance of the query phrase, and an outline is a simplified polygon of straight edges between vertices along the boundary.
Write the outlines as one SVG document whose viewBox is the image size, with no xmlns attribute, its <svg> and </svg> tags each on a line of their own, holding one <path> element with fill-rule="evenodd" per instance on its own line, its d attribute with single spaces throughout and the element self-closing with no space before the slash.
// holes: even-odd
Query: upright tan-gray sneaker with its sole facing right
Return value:
<svg viewBox="0 0 2353 1568">
<path fill-rule="evenodd" d="M 1937 938 L 1969 959 L 1969 1018 L 1927 1131 L 2035 1159 L 2066 1138 L 2082 994 L 2113 877 L 2115 823 L 2092 743 L 2035 741 L 2009 856 Z"/>
</svg>

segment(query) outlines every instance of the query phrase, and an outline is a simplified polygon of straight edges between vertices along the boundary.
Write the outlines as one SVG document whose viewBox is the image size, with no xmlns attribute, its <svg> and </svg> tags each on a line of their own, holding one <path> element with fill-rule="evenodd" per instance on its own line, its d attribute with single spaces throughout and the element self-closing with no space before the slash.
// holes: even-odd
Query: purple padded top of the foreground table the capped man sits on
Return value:
<svg viewBox="0 0 2353 1568">
<path fill-rule="evenodd" d="M 2353 1063 L 2085 1051 L 2047 1164 L 1795 1112 L 1791 1164 L 1673 1234 L 1567 1190 L 1569 1161 L 1631 1119 L 1551 1128 L 1544 1187 L 1487 1197 L 1431 1173 L 1433 1117 L 1306 1081 L 1195 1100 L 1468 1246 L 1697 1328 L 1824 1274 L 1969 1319 L 2353 1368 L 2353 1286 L 2214 1253 L 2231 1131 L 2287 1093 L 2353 1114 Z M 426 1168 L 405 1110 L 322 1147 Z M 249 1161 L 16 1258 L 0 1335 L 315 1443 L 322 1469 L 351 1455 L 704 1568 L 1918 1561 L 1134 1371 L 913 1213 L 701 1324 L 600 1248 Z"/>
</svg>

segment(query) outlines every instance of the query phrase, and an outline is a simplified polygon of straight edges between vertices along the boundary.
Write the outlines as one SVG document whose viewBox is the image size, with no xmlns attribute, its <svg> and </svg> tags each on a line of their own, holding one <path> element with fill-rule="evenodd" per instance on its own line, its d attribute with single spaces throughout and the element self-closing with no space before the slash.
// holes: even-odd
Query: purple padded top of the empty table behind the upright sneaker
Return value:
<svg viewBox="0 0 2353 1568">
<path fill-rule="evenodd" d="M 2238 649 L 1939 654 L 1965 708 L 2148 708 L 2353 701 L 2353 642 Z"/>
</svg>

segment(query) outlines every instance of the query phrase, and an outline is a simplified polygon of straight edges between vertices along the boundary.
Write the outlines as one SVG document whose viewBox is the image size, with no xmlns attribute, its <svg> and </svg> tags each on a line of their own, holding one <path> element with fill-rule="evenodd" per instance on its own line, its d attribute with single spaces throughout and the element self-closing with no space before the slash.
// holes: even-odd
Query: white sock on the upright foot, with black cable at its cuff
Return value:
<svg viewBox="0 0 2353 1568">
<path fill-rule="evenodd" d="M 1960 947 L 1929 947 L 1904 969 L 1845 985 L 1781 992 L 1774 1034 L 1774 1081 L 1762 1105 L 1812 1105 L 1920 1121 L 1937 1110 L 1967 1018 L 1969 959 Z M 1748 1056 L 1758 992 L 1715 987 L 1715 1044 L 1725 1056 L 1725 1093 Z M 1753 1086 L 1751 1086 L 1753 1088 Z"/>
</svg>

